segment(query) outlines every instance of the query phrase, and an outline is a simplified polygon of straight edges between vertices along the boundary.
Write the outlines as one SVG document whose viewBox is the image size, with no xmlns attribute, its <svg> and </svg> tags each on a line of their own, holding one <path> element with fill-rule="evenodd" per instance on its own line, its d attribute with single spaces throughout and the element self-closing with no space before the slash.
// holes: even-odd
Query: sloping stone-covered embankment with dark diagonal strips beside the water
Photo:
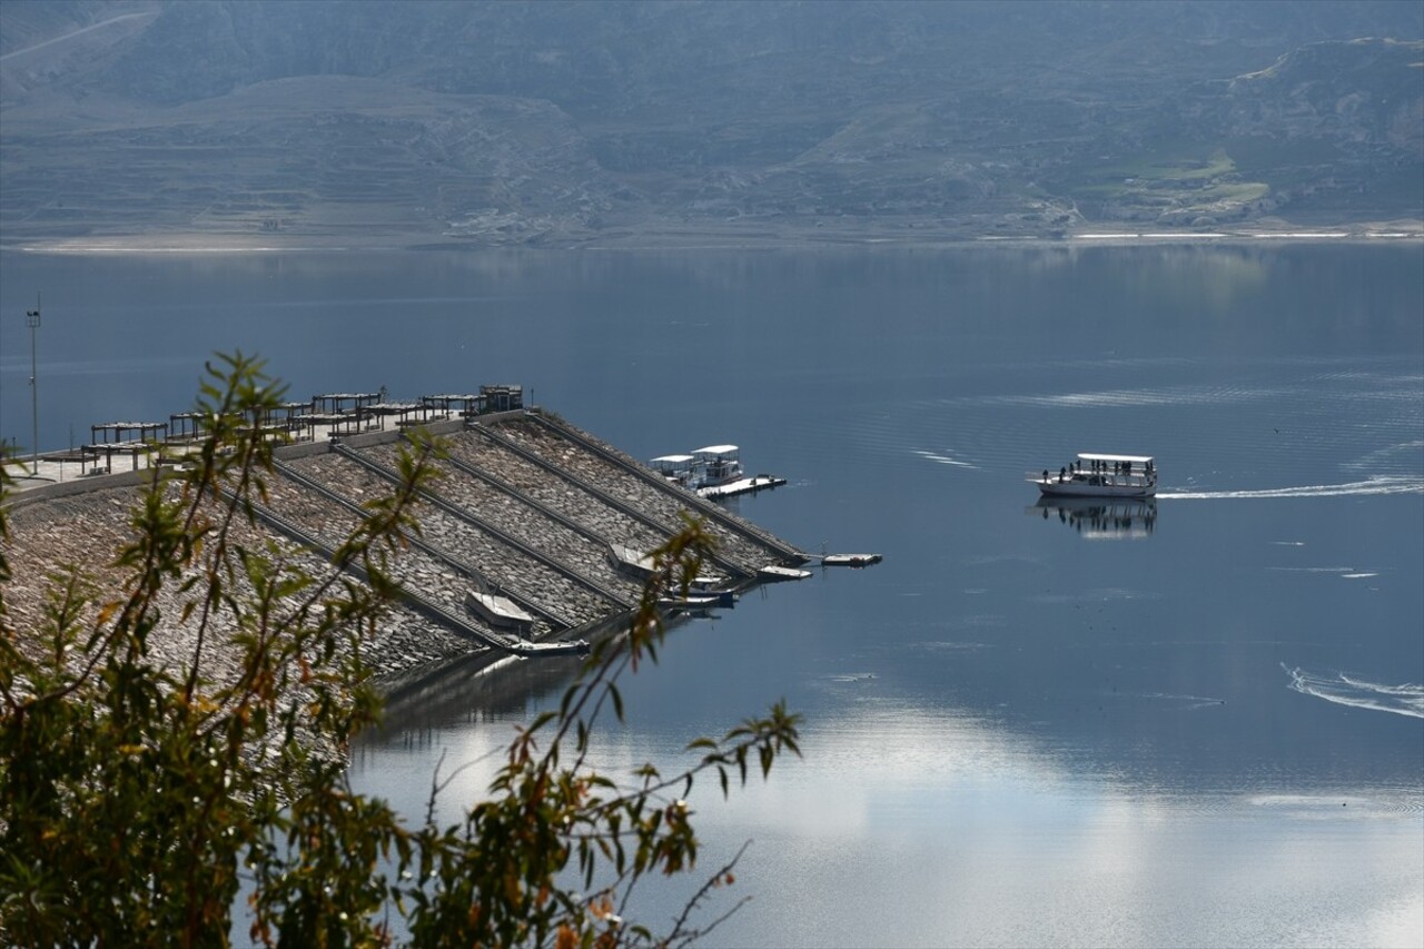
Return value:
<svg viewBox="0 0 1424 949">
<path fill-rule="evenodd" d="M 367 655 L 392 685 L 433 663 L 537 655 L 554 651 L 553 643 L 617 628 L 637 607 L 645 579 L 629 553 L 661 546 L 684 513 L 701 517 L 716 540 L 699 583 L 721 591 L 723 603 L 755 586 L 766 567 L 810 560 L 540 409 L 424 427 L 447 456 L 434 462 L 440 477 L 422 499 L 422 533 L 392 560 L 403 597 Z M 375 430 L 275 449 L 268 497 L 255 504 L 259 530 L 329 560 L 366 516 L 362 503 L 393 487 L 404 439 L 400 429 Z M 135 459 L 131 472 L 13 492 L 11 587 L 19 588 L 11 588 L 11 608 L 23 613 L 40 596 L 27 574 L 83 560 L 87 546 L 120 537 L 147 477 L 151 472 Z"/>
</svg>

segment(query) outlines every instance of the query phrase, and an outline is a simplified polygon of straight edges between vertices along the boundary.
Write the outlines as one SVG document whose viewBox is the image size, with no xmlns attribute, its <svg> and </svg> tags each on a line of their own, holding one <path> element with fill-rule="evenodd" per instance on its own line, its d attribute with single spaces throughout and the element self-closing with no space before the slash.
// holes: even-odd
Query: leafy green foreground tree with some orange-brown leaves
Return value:
<svg viewBox="0 0 1424 949">
<path fill-rule="evenodd" d="M 414 945 L 705 935 L 725 915 L 699 925 L 691 911 L 731 865 L 669 932 L 624 921 L 627 899 L 649 875 L 695 869 L 695 778 L 726 795 L 749 768 L 765 777 L 797 752 L 796 717 L 778 704 L 695 741 L 675 775 L 618 781 L 585 761 L 598 718 L 622 717 L 619 677 L 656 658 L 658 597 L 685 593 L 711 550 L 702 526 L 655 551 L 629 634 L 515 731 L 488 798 L 440 825 L 433 775 L 424 821 L 407 822 L 352 791 L 345 751 L 379 721 L 363 653 L 400 594 L 392 559 L 419 531 L 441 449 L 414 437 L 400 483 L 316 566 L 255 523 L 273 447 L 255 422 L 282 398 L 258 361 L 209 366 L 189 463 L 154 469 L 107 576 L 56 566 L 26 628 L 4 597 L 0 497 L 0 942 L 225 945 L 244 885 L 265 945 L 384 945 L 396 919 Z M 179 661 L 161 648 L 174 640 Z"/>
</svg>

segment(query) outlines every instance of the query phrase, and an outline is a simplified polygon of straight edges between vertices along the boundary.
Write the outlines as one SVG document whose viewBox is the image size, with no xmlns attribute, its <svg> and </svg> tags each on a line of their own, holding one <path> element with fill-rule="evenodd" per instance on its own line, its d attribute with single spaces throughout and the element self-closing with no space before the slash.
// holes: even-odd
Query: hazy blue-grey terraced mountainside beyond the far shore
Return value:
<svg viewBox="0 0 1424 949">
<path fill-rule="evenodd" d="M 1424 219 L 1424 4 L 6 0 L 0 241 Z"/>
</svg>

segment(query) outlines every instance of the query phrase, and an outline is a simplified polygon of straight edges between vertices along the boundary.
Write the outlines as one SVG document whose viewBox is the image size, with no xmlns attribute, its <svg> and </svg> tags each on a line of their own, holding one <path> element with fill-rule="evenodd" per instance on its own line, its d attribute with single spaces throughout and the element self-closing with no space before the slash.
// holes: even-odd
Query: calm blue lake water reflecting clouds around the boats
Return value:
<svg viewBox="0 0 1424 949">
<path fill-rule="evenodd" d="M 0 255 L 0 435 L 167 419 L 214 349 L 295 398 L 517 382 L 639 457 L 742 446 L 733 506 L 867 570 L 678 627 L 608 769 L 785 697 L 805 759 L 693 795 L 750 841 L 735 946 L 1424 943 L 1424 249 Z M 1149 453 L 1152 509 L 1027 470 Z M 356 782 L 450 814 L 564 684 L 392 708 Z M 688 888 L 652 885 L 655 926 Z"/>
</svg>

